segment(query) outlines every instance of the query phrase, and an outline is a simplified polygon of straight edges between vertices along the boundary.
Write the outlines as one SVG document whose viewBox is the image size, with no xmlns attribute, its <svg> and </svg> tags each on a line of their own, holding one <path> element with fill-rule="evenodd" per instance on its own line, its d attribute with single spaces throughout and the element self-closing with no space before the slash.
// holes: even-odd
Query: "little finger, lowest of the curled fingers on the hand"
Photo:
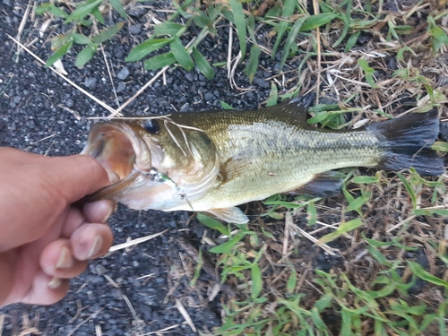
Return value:
<svg viewBox="0 0 448 336">
<path fill-rule="evenodd" d="M 52 305 L 65 297 L 68 280 L 55 279 L 38 271 L 32 281 L 31 289 L 21 302 L 30 305 Z"/>
</svg>

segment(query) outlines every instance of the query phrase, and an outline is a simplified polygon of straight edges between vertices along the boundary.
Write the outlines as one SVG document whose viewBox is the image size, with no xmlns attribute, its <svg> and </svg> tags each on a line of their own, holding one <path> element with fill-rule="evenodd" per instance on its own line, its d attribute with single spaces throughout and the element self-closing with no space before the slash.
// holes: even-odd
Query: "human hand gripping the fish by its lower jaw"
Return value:
<svg viewBox="0 0 448 336">
<path fill-rule="evenodd" d="M 65 297 L 68 279 L 108 252 L 103 224 L 111 201 L 76 202 L 108 185 L 88 156 L 49 158 L 0 148 L 0 306 L 49 305 Z"/>
</svg>

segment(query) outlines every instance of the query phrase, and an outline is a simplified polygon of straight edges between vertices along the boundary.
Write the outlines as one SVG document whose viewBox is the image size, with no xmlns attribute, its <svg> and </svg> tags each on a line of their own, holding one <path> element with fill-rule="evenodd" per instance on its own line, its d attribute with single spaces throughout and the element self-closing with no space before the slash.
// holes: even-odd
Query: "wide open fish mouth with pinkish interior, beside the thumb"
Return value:
<svg viewBox="0 0 448 336">
<path fill-rule="evenodd" d="M 136 134 L 131 125 L 125 123 L 92 125 L 81 154 L 97 159 L 108 172 L 111 183 L 91 194 L 91 201 L 114 199 L 116 194 L 138 179 L 140 172 L 151 168 L 151 151 L 146 142 Z"/>
</svg>

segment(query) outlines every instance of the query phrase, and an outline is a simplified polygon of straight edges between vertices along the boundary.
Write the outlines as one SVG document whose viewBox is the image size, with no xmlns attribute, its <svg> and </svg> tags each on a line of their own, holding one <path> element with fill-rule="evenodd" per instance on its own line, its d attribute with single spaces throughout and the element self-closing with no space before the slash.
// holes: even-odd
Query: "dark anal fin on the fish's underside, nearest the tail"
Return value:
<svg viewBox="0 0 448 336">
<path fill-rule="evenodd" d="M 294 193 L 313 197 L 333 197 L 340 194 L 343 179 L 344 174 L 327 171 L 316 175 L 313 180 L 295 190 Z"/>
</svg>

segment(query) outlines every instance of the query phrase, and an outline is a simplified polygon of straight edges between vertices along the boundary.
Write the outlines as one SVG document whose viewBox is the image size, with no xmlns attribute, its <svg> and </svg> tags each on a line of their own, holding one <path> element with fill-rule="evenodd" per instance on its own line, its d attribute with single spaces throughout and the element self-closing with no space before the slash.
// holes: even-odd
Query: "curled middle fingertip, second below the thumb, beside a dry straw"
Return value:
<svg viewBox="0 0 448 336">
<path fill-rule="evenodd" d="M 70 246 L 78 260 L 98 258 L 106 254 L 113 241 L 112 231 L 105 224 L 84 224 L 73 232 Z"/>
</svg>

